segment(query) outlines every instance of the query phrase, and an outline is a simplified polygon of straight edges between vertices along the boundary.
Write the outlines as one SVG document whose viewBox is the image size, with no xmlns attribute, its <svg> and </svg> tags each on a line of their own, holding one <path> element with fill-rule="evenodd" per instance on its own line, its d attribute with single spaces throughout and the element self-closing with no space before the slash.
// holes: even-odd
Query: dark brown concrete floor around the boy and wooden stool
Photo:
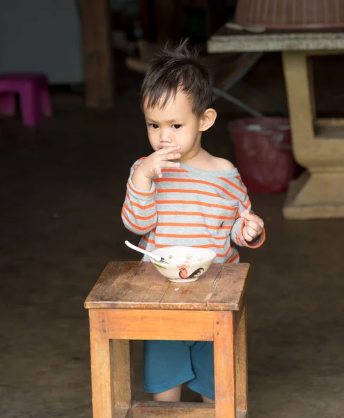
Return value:
<svg viewBox="0 0 344 418">
<path fill-rule="evenodd" d="M 130 165 L 149 146 L 139 77 L 120 80 L 116 111 L 55 95 L 36 129 L 0 121 L 0 417 L 91 418 L 84 299 L 107 261 L 136 255 L 120 208 Z M 204 146 L 231 158 L 228 116 Z M 283 194 L 251 196 L 266 222 L 248 288 L 252 418 L 343 418 L 342 220 L 290 222 Z M 141 343 L 135 343 L 136 397 Z M 197 400 L 185 392 L 185 400 Z"/>
</svg>

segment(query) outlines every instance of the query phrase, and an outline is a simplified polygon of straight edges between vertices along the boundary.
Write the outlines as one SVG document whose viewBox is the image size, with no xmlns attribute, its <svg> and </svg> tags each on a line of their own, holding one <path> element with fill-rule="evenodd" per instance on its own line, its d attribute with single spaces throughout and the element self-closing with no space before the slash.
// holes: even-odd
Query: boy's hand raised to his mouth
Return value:
<svg viewBox="0 0 344 418">
<path fill-rule="evenodd" d="M 180 158 L 180 153 L 178 150 L 180 146 L 168 146 L 162 148 L 161 150 L 155 151 L 155 153 L 150 154 L 146 160 L 141 162 L 137 169 L 145 176 L 146 178 L 153 178 L 158 176 L 162 178 L 162 169 L 166 167 L 178 168 L 180 167 L 179 162 L 171 162 L 170 160 L 178 160 Z"/>
</svg>

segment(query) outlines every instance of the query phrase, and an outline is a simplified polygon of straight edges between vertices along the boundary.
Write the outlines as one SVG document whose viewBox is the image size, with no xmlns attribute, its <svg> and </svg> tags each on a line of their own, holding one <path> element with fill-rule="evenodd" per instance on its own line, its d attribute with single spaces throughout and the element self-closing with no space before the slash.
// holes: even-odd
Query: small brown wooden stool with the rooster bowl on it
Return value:
<svg viewBox="0 0 344 418">
<path fill-rule="evenodd" d="M 168 281 L 151 263 L 109 263 L 88 295 L 93 418 L 246 418 L 248 264 Z M 136 402 L 130 340 L 214 341 L 215 403 Z"/>
</svg>

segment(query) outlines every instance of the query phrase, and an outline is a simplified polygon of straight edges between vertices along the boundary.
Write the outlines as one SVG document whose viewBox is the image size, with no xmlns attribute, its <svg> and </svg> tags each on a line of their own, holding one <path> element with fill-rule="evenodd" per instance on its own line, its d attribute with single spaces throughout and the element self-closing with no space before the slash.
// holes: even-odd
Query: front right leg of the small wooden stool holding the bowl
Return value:
<svg viewBox="0 0 344 418">
<path fill-rule="evenodd" d="M 233 312 L 214 313 L 215 417 L 235 418 Z"/>
</svg>

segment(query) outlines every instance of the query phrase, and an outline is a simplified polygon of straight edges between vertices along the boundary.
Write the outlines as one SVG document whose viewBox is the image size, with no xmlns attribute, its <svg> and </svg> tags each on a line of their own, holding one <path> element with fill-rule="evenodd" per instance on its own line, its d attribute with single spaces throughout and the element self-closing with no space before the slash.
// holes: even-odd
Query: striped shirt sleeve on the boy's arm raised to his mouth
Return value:
<svg viewBox="0 0 344 418">
<path fill-rule="evenodd" d="M 137 235 L 145 235 L 157 225 L 157 209 L 155 207 L 155 184 L 150 190 L 140 190 L 132 183 L 132 175 L 143 159 L 138 160 L 130 169 L 127 181 L 127 193 L 122 208 L 122 220 L 127 229 Z"/>
</svg>

